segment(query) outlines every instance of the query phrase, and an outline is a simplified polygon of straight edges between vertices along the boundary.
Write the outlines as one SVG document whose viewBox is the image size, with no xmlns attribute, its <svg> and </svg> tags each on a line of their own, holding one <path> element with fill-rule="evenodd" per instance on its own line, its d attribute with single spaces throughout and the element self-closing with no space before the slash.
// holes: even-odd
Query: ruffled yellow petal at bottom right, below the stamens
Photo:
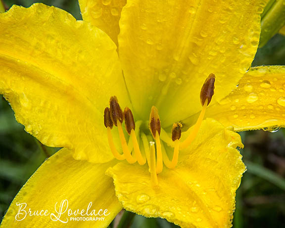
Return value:
<svg viewBox="0 0 285 228">
<path fill-rule="evenodd" d="M 116 195 L 127 210 L 186 228 L 230 227 L 245 170 L 237 145 L 242 145 L 237 133 L 207 119 L 187 158 L 174 170 L 164 168 L 158 175 L 158 187 L 151 187 L 146 166 L 120 162 L 107 174 L 113 177 Z"/>
</svg>

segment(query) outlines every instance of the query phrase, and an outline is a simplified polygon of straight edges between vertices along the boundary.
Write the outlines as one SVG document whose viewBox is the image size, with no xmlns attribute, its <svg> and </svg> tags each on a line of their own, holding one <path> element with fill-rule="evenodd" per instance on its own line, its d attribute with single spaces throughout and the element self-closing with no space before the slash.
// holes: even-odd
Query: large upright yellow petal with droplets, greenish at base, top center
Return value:
<svg viewBox="0 0 285 228">
<path fill-rule="evenodd" d="M 133 105 L 162 125 L 201 110 L 199 92 L 216 75 L 214 100 L 232 91 L 255 55 L 266 0 L 128 0 L 119 55 Z M 147 99 L 144 99 L 147 98 Z"/>
</svg>

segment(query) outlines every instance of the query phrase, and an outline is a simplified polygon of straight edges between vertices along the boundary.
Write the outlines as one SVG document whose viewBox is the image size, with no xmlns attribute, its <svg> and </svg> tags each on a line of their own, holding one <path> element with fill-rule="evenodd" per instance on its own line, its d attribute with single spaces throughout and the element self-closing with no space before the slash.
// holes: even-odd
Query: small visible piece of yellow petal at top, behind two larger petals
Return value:
<svg viewBox="0 0 285 228">
<path fill-rule="evenodd" d="M 119 20 L 127 0 L 79 0 L 82 17 L 118 44 Z"/>
</svg>

